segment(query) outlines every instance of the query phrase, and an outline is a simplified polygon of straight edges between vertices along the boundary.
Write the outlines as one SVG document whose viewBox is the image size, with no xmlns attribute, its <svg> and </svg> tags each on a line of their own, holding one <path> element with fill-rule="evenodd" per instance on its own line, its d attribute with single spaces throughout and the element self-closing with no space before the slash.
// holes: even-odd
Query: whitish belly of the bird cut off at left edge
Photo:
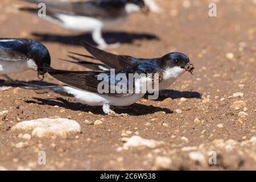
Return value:
<svg viewBox="0 0 256 182">
<path fill-rule="evenodd" d="M 0 75 L 20 73 L 28 68 L 27 61 L 6 61 L 0 60 Z"/>
</svg>

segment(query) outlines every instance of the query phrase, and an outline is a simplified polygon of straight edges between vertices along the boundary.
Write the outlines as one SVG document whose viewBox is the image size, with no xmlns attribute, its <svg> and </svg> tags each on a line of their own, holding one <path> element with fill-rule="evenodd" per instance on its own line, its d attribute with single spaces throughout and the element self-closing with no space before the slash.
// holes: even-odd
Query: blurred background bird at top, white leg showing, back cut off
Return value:
<svg viewBox="0 0 256 182">
<path fill-rule="evenodd" d="M 143 0 L 94 0 L 80 2 L 49 2 L 23 0 L 31 3 L 45 3 L 46 16 L 42 18 L 70 30 L 91 31 L 94 42 L 101 48 L 110 47 L 102 38 L 102 29 L 123 22 L 130 13 L 148 12 Z M 22 7 L 20 10 L 38 14 L 38 9 Z M 112 45 L 116 47 L 117 44 Z"/>
</svg>

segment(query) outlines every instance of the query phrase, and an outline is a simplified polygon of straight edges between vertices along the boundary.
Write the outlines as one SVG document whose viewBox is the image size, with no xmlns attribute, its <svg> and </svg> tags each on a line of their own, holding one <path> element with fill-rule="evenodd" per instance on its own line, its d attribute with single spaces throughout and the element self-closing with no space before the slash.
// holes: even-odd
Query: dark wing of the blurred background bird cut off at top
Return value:
<svg viewBox="0 0 256 182">
<path fill-rule="evenodd" d="M 80 2 L 50 2 L 41 0 L 23 0 L 31 3 L 45 3 L 47 15 L 58 19 L 57 14 L 88 16 L 97 19 L 112 19 L 125 15 L 125 2 L 122 0 L 96 0 Z M 38 9 L 22 7 L 20 10 L 37 13 Z"/>
</svg>

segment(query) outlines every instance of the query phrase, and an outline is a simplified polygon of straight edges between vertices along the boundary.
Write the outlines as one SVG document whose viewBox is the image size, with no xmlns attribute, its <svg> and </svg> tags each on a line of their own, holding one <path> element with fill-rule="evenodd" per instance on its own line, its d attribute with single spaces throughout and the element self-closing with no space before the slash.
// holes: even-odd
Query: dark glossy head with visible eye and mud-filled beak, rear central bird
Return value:
<svg viewBox="0 0 256 182">
<path fill-rule="evenodd" d="M 160 61 L 161 61 L 162 68 L 180 67 L 189 72 L 191 72 L 193 70 L 192 64 L 189 64 L 188 56 L 186 56 L 180 52 L 168 53 L 167 55 L 164 55 L 160 59 Z M 189 65 L 190 65 L 190 68 L 188 70 Z"/>
</svg>

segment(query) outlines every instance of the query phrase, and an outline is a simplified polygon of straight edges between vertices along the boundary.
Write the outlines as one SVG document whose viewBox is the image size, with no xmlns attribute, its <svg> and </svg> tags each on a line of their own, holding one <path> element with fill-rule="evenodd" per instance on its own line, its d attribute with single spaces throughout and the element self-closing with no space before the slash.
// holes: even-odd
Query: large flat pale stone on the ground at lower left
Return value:
<svg viewBox="0 0 256 182">
<path fill-rule="evenodd" d="M 81 133 L 79 123 L 70 119 L 35 119 L 16 124 L 12 130 L 32 130 L 33 137 L 62 137 Z"/>
</svg>

